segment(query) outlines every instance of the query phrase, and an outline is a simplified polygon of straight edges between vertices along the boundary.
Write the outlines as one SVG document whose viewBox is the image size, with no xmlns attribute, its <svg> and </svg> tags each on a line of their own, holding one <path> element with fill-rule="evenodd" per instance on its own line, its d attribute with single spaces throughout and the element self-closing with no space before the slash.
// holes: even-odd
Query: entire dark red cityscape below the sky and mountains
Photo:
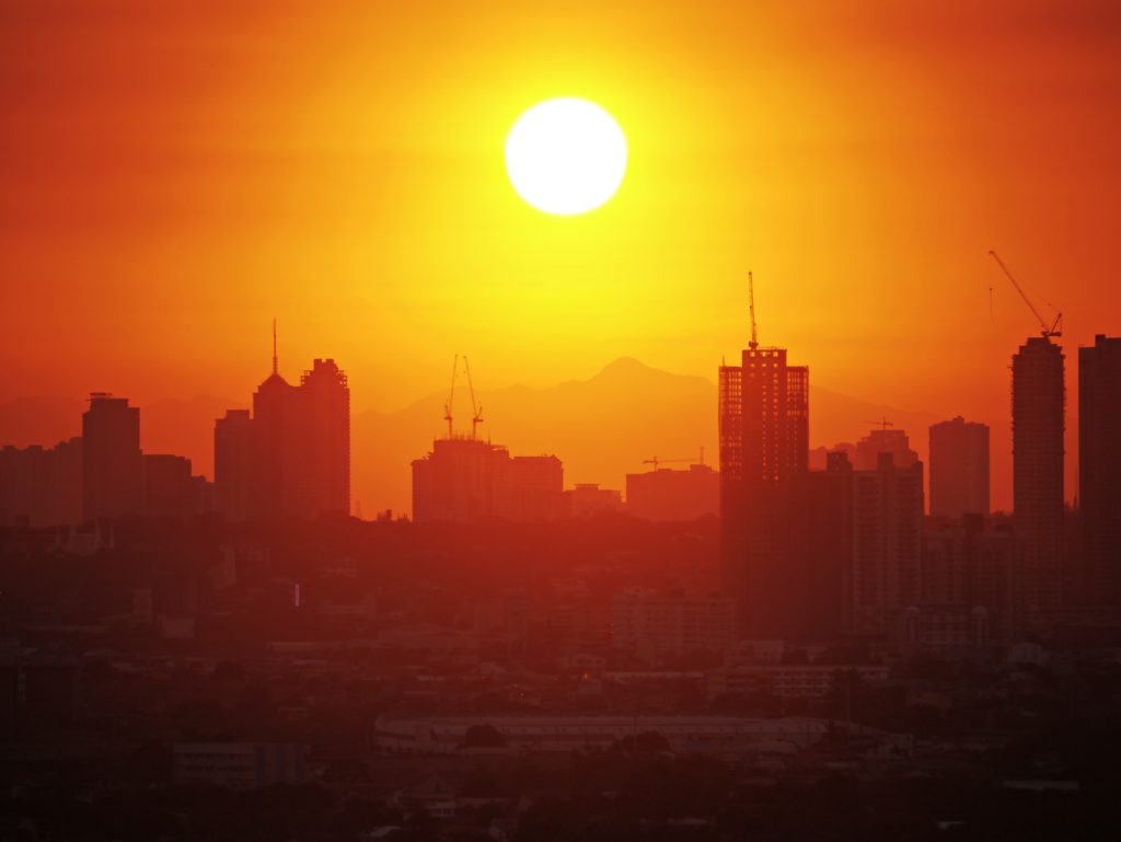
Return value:
<svg viewBox="0 0 1121 842">
<path fill-rule="evenodd" d="M 94 392 L 0 452 L 0 840 L 1117 839 L 1121 339 L 1077 349 L 1069 507 L 1043 327 L 1010 515 L 982 423 L 812 451 L 753 325 L 719 471 L 620 490 L 485 439 L 457 360 L 410 517 L 352 516 L 333 360 L 274 350 L 213 482 Z"/>
</svg>

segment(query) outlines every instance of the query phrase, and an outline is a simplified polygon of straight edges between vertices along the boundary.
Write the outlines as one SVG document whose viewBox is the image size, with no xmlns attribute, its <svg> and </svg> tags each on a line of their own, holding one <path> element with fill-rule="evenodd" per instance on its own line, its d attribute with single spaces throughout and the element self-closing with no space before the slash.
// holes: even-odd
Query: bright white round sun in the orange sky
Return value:
<svg viewBox="0 0 1121 842">
<path fill-rule="evenodd" d="M 518 195 L 546 213 L 592 211 L 619 189 L 627 138 L 606 111 L 587 100 L 539 102 L 506 138 L 506 170 Z"/>
</svg>

